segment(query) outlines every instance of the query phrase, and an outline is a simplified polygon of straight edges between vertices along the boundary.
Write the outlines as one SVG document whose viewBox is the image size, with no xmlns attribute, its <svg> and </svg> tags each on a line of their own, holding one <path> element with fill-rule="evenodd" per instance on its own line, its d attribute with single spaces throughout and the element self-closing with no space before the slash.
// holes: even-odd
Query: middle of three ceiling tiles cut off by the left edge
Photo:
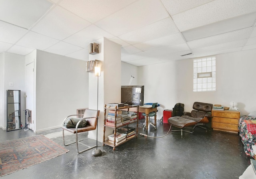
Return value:
<svg viewBox="0 0 256 179">
<path fill-rule="evenodd" d="M 0 41 L 16 43 L 28 30 L 13 26 L 0 20 Z"/>
</svg>

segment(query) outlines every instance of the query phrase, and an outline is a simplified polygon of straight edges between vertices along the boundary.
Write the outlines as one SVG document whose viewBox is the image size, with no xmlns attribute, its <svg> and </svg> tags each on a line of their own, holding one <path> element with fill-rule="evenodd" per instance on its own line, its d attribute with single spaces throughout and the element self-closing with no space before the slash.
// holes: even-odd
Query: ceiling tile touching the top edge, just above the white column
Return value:
<svg viewBox="0 0 256 179">
<path fill-rule="evenodd" d="M 96 25 L 118 36 L 167 17 L 169 15 L 160 1 L 138 0 L 100 20 Z"/>
</svg>

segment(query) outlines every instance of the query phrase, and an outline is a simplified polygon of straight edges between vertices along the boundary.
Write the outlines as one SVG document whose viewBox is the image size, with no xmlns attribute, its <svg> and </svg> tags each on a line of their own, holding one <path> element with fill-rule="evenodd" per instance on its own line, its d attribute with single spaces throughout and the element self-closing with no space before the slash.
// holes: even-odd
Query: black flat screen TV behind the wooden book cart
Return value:
<svg viewBox="0 0 256 179">
<path fill-rule="evenodd" d="M 121 86 L 121 103 L 143 106 L 144 86 Z"/>
</svg>

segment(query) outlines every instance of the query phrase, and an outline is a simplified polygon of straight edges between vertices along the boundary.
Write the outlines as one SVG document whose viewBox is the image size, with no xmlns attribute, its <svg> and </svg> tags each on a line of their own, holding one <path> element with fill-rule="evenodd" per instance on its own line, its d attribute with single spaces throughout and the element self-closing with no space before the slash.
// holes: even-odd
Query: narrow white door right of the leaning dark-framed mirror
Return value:
<svg viewBox="0 0 256 179">
<path fill-rule="evenodd" d="M 31 122 L 27 124 L 28 128 L 34 130 L 34 62 L 26 65 L 26 109 L 32 111 Z"/>
</svg>

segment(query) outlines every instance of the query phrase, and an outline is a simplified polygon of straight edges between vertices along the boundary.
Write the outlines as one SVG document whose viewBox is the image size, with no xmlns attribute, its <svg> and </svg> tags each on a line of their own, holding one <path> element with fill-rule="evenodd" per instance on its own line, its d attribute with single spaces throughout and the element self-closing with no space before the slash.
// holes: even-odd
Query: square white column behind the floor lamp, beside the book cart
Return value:
<svg viewBox="0 0 256 179">
<path fill-rule="evenodd" d="M 103 121 L 104 121 L 104 105 L 112 102 L 121 102 L 121 45 L 101 38 L 94 41 L 99 44 L 99 53 L 89 55 L 89 60 L 102 61 L 102 72 L 99 77 L 98 90 L 98 110 L 100 116 L 98 119 L 98 141 L 103 140 Z M 97 77 L 94 73 L 89 74 L 89 108 L 97 109 Z M 106 138 L 112 134 L 113 130 L 106 128 Z M 96 130 L 90 131 L 88 138 L 96 140 Z"/>
</svg>

